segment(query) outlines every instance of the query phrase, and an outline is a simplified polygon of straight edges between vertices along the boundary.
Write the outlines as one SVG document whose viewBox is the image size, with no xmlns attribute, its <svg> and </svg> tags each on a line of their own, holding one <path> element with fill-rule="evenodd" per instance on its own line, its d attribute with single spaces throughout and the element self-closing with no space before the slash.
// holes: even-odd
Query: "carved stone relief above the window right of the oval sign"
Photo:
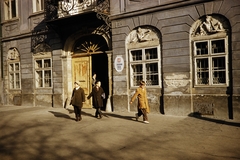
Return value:
<svg viewBox="0 0 240 160">
<path fill-rule="evenodd" d="M 157 39 L 157 36 L 155 33 L 152 33 L 152 30 L 138 27 L 136 30 L 130 33 L 128 43 L 140 43 L 152 41 L 154 39 Z"/>
</svg>

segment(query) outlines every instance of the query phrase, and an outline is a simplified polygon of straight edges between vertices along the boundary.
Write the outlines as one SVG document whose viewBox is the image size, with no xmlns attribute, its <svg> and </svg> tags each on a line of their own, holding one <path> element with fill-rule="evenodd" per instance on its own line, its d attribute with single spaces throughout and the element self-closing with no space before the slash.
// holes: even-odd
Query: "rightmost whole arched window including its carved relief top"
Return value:
<svg viewBox="0 0 240 160">
<path fill-rule="evenodd" d="M 195 86 L 228 86 L 229 24 L 207 15 L 191 28 Z"/>
</svg>

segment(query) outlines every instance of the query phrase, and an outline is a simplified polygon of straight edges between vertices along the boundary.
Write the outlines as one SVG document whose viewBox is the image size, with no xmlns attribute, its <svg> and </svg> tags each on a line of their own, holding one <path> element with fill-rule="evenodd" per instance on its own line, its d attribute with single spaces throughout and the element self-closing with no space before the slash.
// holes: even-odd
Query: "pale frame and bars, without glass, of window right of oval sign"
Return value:
<svg viewBox="0 0 240 160">
<path fill-rule="evenodd" d="M 157 58 L 155 58 L 155 59 L 146 59 L 145 51 L 147 49 L 153 49 L 153 48 L 157 49 Z M 132 51 L 137 51 L 137 50 L 142 50 L 142 57 L 143 57 L 143 59 L 134 61 L 133 58 L 132 58 L 131 52 Z M 161 87 L 161 79 L 160 79 L 160 75 L 161 75 L 160 45 L 158 45 L 158 46 L 150 46 L 150 47 L 143 47 L 143 48 L 137 48 L 137 49 L 136 48 L 135 49 L 129 49 L 128 53 L 129 53 L 130 87 L 137 87 L 137 86 L 139 86 L 139 81 L 140 80 L 145 81 L 147 87 L 156 87 L 156 86 L 160 86 Z M 147 79 L 147 68 L 146 68 L 146 65 L 147 64 L 153 64 L 153 63 L 157 63 L 157 70 L 158 70 L 157 73 L 152 73 L 155 76 L 157 76 L 157 83 L 158 84 L 156 84 L 156 85 L 152 85 L 150 83 L 150 81 Z M 134 71 L 132 69 L 132 65 L 142 65 L 142 73 L 141 73 L 141 75 L 140 74 L 138 75 L 138 76 L 141 76 L 142 78 L 134 80 Z M 149 73 L 149 74 L 151 74 L 151 73 Z"/>
</svg>

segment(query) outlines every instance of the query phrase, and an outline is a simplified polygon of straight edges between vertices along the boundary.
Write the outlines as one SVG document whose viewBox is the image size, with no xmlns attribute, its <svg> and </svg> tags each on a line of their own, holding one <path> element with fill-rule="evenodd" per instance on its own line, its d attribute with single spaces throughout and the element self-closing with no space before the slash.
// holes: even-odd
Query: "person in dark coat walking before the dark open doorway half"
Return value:
<svg viewBox="0 0 240 160">
<path fill-rule="evenodd" d="M 103 107 L 103 99 L 105 99 L 105 92 L 101 87 L 101 82 L 97 81 L 92 89 L 92 92 L 88 95 L 87 99 L 93 97 L 93 106 L 96 109 L 95 117 L 102 118 L 101 107 Z"/>
</svg>

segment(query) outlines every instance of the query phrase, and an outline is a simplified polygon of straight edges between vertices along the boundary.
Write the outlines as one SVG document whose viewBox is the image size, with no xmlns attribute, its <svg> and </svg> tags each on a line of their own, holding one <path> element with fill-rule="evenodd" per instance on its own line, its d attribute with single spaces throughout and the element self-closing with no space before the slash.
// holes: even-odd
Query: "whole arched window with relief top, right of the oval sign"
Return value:
<svg viewBox="0 0 240 160">
<path fill-rule="evenodd" d="M 151 27 L 138 27 L 126 39 L 129 59 L 130 86 L 144 80 L 147 86 L 161 86 L 160 43 Z"/>
</svg>

